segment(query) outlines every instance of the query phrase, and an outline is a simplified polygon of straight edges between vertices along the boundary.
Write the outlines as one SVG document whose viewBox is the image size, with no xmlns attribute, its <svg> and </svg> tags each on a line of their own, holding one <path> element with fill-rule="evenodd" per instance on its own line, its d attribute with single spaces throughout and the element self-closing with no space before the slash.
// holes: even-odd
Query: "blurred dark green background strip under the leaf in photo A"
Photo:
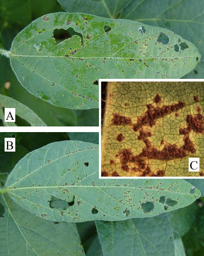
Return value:
<svg viewBox="0 0 204 256">
<path fill-rule="evenodd" d="M 25 90 L 9 66 L 8 60 L 0 60 L 1 94 L 12 97 L 32 109 L 47 126 L 97 126 L 98 110 L 69 110 L 49 104 Z M 43 110 L 43 111 L 42 111 Z"/>
</svg>

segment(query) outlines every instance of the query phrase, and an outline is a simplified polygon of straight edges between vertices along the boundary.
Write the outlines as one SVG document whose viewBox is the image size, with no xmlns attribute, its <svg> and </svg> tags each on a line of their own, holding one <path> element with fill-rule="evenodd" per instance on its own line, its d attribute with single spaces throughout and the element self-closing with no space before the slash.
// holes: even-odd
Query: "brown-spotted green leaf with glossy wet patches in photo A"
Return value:
<svg viewBox="0 0 204 256">
<path fill-rule="evenodd" d="M 145 25 L 141 33 L 140 27 L 89 14 L 47 14 L 15 37 L 11 66 L 30 93 L 69 109 L 98 108 L 99 77 L 180 78 L 195 68 L 200 54 L 190 42 L 166 29 Z M 57 44 L 59 29 L 72 29 L 72 37 Z M 161 33 L 167 45 L 157 41 Z M 188 49 L 174 50 L 179 39 Z"/>
</svg>

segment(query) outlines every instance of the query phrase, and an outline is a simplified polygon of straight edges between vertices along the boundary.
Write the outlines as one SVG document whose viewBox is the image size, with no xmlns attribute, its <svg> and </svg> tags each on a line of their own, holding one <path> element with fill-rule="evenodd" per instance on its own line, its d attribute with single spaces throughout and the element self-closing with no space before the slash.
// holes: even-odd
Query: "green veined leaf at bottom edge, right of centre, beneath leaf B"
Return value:
<svg viewBox="0 0 204 256">
<path fill-rule="evenodd" d="M 174 255 L 171 225 L 166 214 L 126 221 L 96 221 L 104 256 Z"/>
</svg>

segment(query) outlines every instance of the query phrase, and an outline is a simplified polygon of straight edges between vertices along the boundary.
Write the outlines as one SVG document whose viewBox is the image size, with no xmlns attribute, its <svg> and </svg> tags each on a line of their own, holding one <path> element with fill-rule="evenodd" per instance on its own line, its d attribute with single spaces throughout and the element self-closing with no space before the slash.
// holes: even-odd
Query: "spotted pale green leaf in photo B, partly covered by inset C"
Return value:
<svg viewBox="0 0 204 256">
<path fill-rule="evenodd" d="M 184 180 L 98 179 L 98 145 L 62 141 L 22 158 L 0 194 L 8 193 L 21 207 L 47 220 L 113 221 L 185 207 L 200 196 L 191 187 Z M 65 210 L 50 207 L 54 198 L 69 206 Z"/>
</svg>

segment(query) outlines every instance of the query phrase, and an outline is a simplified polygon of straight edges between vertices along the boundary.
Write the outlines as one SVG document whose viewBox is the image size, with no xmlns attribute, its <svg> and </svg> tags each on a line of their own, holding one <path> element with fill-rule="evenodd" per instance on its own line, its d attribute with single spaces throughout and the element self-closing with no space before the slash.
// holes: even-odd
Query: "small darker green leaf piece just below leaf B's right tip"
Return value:
<svg viewBox="0 0 204 256">
<path fill-rule="evenodd" d="M 191 228 L 196 216 L 196 203 L 168 212 L 174 239 L 183 237 Z"/>
</svg>

